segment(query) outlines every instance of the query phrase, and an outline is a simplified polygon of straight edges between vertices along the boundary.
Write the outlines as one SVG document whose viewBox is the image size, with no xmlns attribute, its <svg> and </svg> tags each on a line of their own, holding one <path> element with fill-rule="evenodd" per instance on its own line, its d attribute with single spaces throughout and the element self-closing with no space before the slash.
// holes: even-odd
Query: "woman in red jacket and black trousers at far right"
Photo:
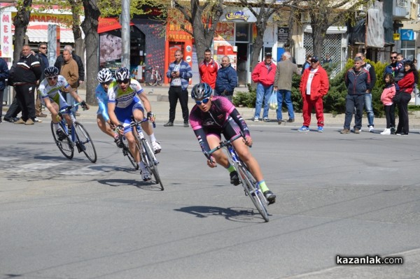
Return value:
<svg viewBox="0 0 420 279">
<path fill-rule="evenodd" d="M 408 102 L 411 100 L 414 87 L 419 82 L 419 73 L 411 60 L 407 60 L 404 63 L 404 73 L 404 78 L 398 81 L 401 94 L 401 99 L 398 103 L 398 127 L 397 131 L 395 131 L 398 136 L 408 135 Z"/>
</svg>

